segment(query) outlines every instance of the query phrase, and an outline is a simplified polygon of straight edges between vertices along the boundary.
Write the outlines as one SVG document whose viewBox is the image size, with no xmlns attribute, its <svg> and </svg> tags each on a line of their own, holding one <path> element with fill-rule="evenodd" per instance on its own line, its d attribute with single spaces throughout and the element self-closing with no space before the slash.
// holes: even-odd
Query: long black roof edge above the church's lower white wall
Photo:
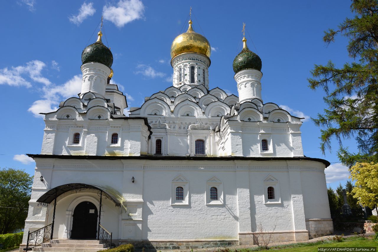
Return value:
<svg viewBox="0 0 378 252">
<path fill-rule="evenodd" d="M 255 161 L 271 161 L 271 160 L 308 160 L 324 163 L 325 167 L 330 166 L 330 162 L 325 159 L 314 157 L 206 157 L 206 156 L 88 156 L 88 155 L 53 155 L 53 154 L 26 154 L 28 157 L 46 158 L 46 159 L 99 159 L 99 160 L 117 160 L 117 159 L 147 159 L 147 160 L 255 160 Z"/>
</svg>

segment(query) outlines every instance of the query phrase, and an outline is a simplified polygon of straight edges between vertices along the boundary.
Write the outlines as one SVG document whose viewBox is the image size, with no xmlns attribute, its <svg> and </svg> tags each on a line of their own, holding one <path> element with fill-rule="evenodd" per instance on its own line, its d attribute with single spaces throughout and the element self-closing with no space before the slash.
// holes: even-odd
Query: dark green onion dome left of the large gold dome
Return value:
<svg viewBox="0 0 378 252">
<path fill-rule="evenodd" d="M 113 64 L 113 54 L 108 47 L 102 44 L 101 41 L 102 33 L 98 33 L 98 39 L 95 43 L 85 47 L 81 54 L 82 64 L 88 62 L 98 62 L 106 65 L 108 68 L 112 67 Z"/>
</svg>

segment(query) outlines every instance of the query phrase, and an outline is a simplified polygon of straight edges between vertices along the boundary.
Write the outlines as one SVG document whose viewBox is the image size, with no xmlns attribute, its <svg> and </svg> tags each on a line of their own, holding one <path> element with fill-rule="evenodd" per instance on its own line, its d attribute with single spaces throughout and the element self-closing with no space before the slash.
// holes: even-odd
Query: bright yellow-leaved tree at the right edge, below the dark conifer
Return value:
<svg viewBox="0 0 378 252">
<path fill-rule="evenodd" d="M 356 181 L 352 189 L 358 203 L 375 208 L 378 203 L 378 163 L 356 163 L 350 168 L 350 178 Z"/>
</svg>

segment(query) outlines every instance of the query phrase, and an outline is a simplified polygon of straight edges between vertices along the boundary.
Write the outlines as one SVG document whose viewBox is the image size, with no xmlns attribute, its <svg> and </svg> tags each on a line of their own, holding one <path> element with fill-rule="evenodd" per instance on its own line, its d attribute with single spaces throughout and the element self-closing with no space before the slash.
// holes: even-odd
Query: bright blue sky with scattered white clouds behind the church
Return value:
<svg viewBox="0 0 378 252">
<path fill-rule="evenodd" d="M 328 47 L 322 41 L 324 30 L 353 16 L 350 2 L 15 0 L 0 8 L 0 167 L 34 173 L 35 163 L 19 155 L 40 153 L 44 122 L 38 113 L 80 92 L 81 52 L 96 41 L 102 15 L 102 40 L 114 56 L 112 80 L 127 94 L 129 107 L 139 107 L 145 96 L 172 85 L 170 45 L 186 31 L 190 6 L 195 31 L 212 47 L 210 88 L 237 95 L 232 61 L 241 50 L 245 22 L 247 44 L 262 59 L 264 102 L 306 117 L 301 127 L 306 156 L 338 162 L 336 141 L 332 153 L 323 156 L 319 149 L 320 129 L 309 118 L 325 108 L 324 92 L 310 90 L 307 78 L 314 64 L 332 60 L 341 67 L 352 61 L 344 37 Z M 353 140 L 345 143 L 356 151 Z M 327 184 L 345 184 L 348 175 L 333 163 L 326 169 Z"/>
</svg>

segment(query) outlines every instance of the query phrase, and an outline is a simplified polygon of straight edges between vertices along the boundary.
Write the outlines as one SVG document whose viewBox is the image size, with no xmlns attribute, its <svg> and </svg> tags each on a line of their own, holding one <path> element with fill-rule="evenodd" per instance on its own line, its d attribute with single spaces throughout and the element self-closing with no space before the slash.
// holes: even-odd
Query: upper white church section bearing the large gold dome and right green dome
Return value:
<svg viewBox="0 0 378 252">
<path fill-rule="evenodd" d="M 245 37 L 242 41 L 243 50 L 233 64 L 239 98 L 227 95 L 218 87 L 209 90 L 211 47 L 204 36 L 194 32 L 189 20 L 186 33 L 177 36 L 171 46 L 173 86 L 146 97 L 141 107 L 130 108 L 130 117 L 147 117 L 152 126 L 149 154 L 155 154 L 158 140 L 159 146 L 163 145 L 163 151 L 159 147 L 162 155 L 183 156 L 188 150 L 195 155 L 194 141 L 200 138 L 207 143 L 207 156 L 303 156 L 301 118 L 290 115 L 277 104 L 263 104 L 261 59 L 248 49 Z M 233 127 L 245 131 L 243 143 Z M 274 147 L 278 132 L 290 132 L 291 140 L 286 133 L 279 140 L 291 141 L 289 148 Z M 265 140 L 264 148 L 262 140 Z M 251 148 L 247 148 L 247 142 Z"/>
</svg>

